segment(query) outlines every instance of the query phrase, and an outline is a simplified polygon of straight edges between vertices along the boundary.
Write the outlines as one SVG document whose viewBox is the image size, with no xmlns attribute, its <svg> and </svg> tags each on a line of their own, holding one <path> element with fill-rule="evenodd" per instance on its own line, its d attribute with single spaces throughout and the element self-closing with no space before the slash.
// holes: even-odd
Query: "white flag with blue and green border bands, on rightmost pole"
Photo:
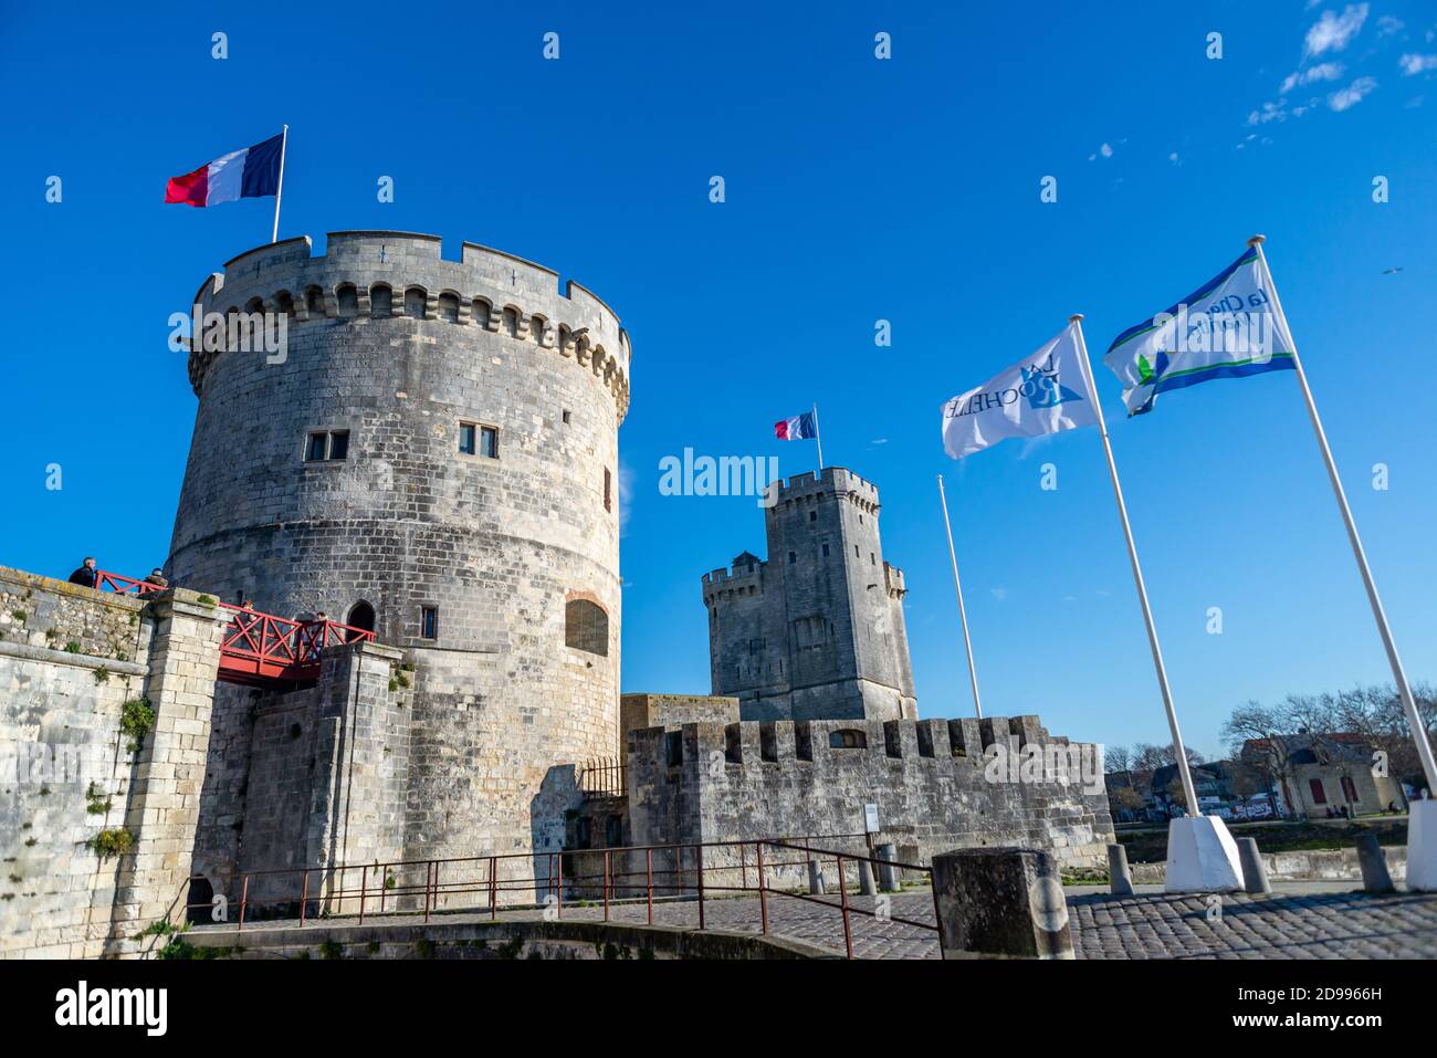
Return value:
<svg viewBox="0 0 1437 1058">
<path fill-rule="evenodd" d="M 1112 339 L 1102 362 L 1122 382 L 1129 415 L 1160 392 L 1211 378 L 1292 369 L 1292 335 L 1256 247 L 1181 302 Z"/>
</svg>

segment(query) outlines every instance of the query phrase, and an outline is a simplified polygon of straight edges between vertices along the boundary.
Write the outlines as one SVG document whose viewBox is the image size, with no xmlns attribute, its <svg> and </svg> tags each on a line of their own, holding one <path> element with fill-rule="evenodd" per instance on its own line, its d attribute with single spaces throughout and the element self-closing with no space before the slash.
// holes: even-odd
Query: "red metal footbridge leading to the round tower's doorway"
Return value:
<svg viewBox="0 0 1437 1058">
<path fill-rule="evenodd" d="M 95 575 L 95 591 L 152 595 L 165 588 L 119 574 L 99 571 Z M 319 678 L 325 647 L 374 640 L 372 631 L 338 621 L 290 621 L 251 607 L 217 605 L 231 614 L 220 643 L 218 678 L 223 683 L 272 689 L 313 683 Z"/>
</svg>

